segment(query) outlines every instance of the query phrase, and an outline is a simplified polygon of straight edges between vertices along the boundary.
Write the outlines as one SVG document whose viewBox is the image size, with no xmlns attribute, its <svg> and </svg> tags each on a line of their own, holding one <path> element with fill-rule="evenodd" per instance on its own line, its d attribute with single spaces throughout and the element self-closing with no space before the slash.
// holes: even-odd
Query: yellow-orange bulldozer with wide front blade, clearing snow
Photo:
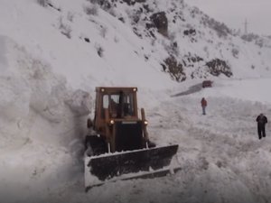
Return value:
<svg viewBox="0 0 271 203">
<path fill-rule="evenodd" d="M 137 88 L 96 88 L 95 115 L 85 139 L 86 191 L 107 181 L 154 178 L 174 173 L 178 144 L 149 140 L 145 110 L 137 109 Z"/>
</svg>

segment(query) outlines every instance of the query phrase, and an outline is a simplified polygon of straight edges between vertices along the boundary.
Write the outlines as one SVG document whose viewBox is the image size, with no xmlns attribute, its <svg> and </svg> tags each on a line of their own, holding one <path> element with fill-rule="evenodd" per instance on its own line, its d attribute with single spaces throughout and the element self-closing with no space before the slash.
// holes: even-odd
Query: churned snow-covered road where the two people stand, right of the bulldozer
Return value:
<svg viewBox="0 0 271 203">
<path fill-rule="evenodd" d="M 271 128 L 266 125 L 267 137 L 259 141 L 255 121 L 260 112 L 271 115 L 270 105 L 216 97 L 210 91 L 214 89 L 168 97 L 147 110 L 154 142 L 180 145 L 182 171 L 154 180 L 108 183 L 87 194 L 78 171 L 79 180 L 58 182 L 44 202 L 270 202 Z M 208 95 L 207 115 L 201 115 L 203 95 Z"/>
</svg>

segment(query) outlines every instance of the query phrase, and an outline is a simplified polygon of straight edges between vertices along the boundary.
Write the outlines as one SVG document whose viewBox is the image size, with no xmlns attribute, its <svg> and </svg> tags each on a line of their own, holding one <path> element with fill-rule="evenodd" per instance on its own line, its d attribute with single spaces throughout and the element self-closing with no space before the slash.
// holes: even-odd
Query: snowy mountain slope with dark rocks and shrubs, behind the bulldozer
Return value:
<svg viewBox="0 0 271 203">
<path fill-rule="evenodd" d="M 164 71 L 179 81 L 221 72 L 269 74 L 270 48 L 243 41 L 183 1 L 54 0 L 43 7 L 35 0 L 3 0 L 2 5 L 2 35 L 76 88 L 137 86 L 139 78 L 143 87 L 163 88 L 152 81 L 171 84 Z"/>
</svg>

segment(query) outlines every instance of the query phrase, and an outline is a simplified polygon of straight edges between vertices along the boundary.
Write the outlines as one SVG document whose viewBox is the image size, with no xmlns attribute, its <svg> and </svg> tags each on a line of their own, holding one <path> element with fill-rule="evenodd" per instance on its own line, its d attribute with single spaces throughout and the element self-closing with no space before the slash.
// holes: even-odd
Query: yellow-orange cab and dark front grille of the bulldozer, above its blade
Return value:
<svg viewBox="0 0 271 203">
<path fill-rule="evenodd" d="M 107 143 L 108 152 L 144 147 L 147 133 L 138 117 L 136 91 L 137 88 L 96 88 L 93 129 Z"/>
</svg>

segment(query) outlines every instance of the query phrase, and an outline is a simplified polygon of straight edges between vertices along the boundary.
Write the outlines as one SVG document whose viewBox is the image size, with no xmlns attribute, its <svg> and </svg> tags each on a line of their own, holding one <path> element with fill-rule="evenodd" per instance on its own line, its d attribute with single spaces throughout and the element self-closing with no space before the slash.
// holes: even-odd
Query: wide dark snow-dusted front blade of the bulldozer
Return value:
<svg viewBox="0 0 271 203">
<path fill-rule="evenodd" d="M 106 153 L 85 158 L 86 191 L 108 181 L 154 178 L 173 173 L 169 167 L 178 145 L 127 152 Z"/>
</svg>

